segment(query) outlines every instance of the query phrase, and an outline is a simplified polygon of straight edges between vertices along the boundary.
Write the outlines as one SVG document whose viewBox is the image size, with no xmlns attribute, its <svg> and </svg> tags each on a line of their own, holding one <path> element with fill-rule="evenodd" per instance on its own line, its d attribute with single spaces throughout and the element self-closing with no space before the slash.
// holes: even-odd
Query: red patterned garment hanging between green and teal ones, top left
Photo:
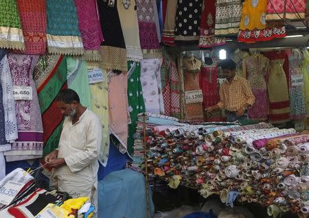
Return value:
<svg viewBox="0 0 309 218">
<path fill-rule="evenodd" d="M 46 52 L 46 5 L 44 0 L 17 0 L 27 54 Z"/>
</svg>

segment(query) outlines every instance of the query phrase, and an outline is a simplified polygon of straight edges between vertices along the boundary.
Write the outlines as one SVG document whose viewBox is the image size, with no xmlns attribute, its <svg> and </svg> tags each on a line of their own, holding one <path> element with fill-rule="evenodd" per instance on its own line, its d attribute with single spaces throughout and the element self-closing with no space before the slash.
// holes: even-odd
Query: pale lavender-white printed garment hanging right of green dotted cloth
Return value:
<svg viewBox="0 0 309 218">
<path fill-rule="evenodd" d="M 147 59 L 141 60 L 141 87 L 145 102 L 146 112 L 160 114 L 160 99 L 157 75 L 160 73 L 161 60 Z"/>
</svg>

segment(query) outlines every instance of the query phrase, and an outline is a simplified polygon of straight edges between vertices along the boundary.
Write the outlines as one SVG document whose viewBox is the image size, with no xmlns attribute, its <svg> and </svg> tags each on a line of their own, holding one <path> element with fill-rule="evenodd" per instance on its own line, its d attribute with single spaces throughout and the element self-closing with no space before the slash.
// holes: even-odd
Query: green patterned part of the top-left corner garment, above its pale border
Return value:
<svg viewBox="0 0 309 218">
<path fill-rule="evenodd" d="M 19 12 L 17 10 L 16 1 L 0 1 L 0 26 L 21 29 L 21 21 L 19 19 Z"/>
</svg>

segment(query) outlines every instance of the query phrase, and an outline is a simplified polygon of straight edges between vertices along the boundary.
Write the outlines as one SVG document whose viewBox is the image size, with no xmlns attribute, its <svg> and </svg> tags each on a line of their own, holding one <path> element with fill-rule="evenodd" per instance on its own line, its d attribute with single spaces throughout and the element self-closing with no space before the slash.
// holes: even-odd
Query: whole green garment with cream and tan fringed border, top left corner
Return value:
<svg viewBox="0 0 309 218">
<path fill-rule="evenodd" d="M 0 47 L 3 49 L 25 49 L 16 1 L 0 1 Z"/>
</svg>

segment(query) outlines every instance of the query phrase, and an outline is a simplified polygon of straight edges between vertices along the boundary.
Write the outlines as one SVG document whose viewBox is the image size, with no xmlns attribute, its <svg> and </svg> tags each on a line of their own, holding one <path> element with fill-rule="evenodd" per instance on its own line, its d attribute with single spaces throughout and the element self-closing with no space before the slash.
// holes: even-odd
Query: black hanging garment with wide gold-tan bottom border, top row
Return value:
<svg viewBox="0 0 309 218">
<path fill-rule="evenodd" d="M 126 44 L 122 26 L 119 21 L 117 11 L 117 1 L 111 7 L 109 1 L 98 0 L 100 12 L 101 29 L 104 34 L 104 43 L 102 43 L 102 69 L 113 69 L 119 71 L 128 71 L 126 65 Z"/>
</svg>

